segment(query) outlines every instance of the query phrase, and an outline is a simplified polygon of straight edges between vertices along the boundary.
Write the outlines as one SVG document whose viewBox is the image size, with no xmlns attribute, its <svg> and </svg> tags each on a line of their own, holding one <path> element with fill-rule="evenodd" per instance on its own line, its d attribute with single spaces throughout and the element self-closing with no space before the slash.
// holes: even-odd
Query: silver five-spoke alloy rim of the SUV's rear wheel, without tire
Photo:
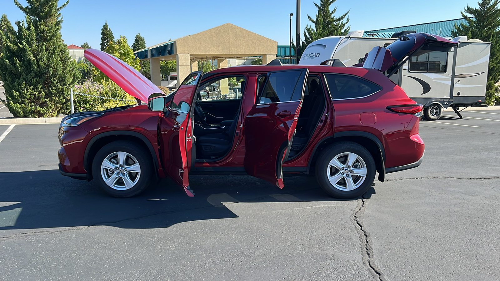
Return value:
<svg viewBox="0 0 500 281">
<path fill-rule="evenodd" d="M 364 182 L 366 172 L 366 164 L 359 155 L 343 152 L 330 160 L 326 175 L 335 188 L 350 191 Z"/>
</svg>

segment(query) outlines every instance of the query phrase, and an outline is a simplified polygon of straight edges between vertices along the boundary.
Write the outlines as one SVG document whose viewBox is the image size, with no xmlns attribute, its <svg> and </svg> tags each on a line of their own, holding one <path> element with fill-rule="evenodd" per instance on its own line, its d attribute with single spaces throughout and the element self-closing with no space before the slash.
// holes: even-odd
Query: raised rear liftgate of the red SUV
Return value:
<svg viewBox="0 0 500 281">
<path fill-rule="evenodd" d="M 428 51 L 451 51 L 460 42 L 449 40 L 439 35 L 427 33 L 410 33 L 399 36 L 397 40 L 383 47 L 374 47 L 364 55 L 363 67 L 375 68 L 380 71 L 394 72 L 412 55 Z M 392 73 L 389 73 L 390 76 Z"/>
</svg>

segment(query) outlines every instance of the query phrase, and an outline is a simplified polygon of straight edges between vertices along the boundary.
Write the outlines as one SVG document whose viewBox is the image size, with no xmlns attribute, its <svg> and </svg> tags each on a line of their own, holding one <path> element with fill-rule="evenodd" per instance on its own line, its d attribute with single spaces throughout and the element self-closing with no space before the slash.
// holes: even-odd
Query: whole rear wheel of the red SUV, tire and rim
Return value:
<svg viewBox="0 0 500 281">
<path fill-rule="evenodd" d="M 375 161 L 363 146 L 342 141 L 326 147 L 316 162 L 316 179 L 326 193 L 351 199 L 364 194 L 375 178 Z"/>
</svg>

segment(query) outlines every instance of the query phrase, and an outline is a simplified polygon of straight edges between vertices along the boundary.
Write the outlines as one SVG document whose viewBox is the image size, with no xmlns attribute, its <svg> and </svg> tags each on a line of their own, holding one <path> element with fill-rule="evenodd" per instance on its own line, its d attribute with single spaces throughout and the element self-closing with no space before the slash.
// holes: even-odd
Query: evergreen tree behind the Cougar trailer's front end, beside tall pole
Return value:
<svg viewBox="0 0 500 281">
<path fill-rule="evenodd" d="M 337 7 L 335 6 L 332 10 L 330 10 L 330 6 L 336 0 L 319 0 L 319 4 L 314 2 L 314 5 L 317 8 L 316 17 L 312 18 L 307 14 L 307 18 L 312 25 L 305 25 L 304 29 L 304 39 L 298 46 L 298 59 L 300 59 L 300 55 L 304 51 L 305 47 L 309 45 L 312 41 L 324 38 L 327 36 L 336 36 L 336 35 L 345 35 L 349 32 L 350 26 L 347 25 L 349 22 L 349 17 L 347 14 L 349 11 L 341 14 L 340 16 L 335 16 L 335 12 L 337 11 Z M 293 48 L 295 48 L 295 44 L 292 42 Z M 298 62 L 298 61 L 297 61 Z"/>
</svg>

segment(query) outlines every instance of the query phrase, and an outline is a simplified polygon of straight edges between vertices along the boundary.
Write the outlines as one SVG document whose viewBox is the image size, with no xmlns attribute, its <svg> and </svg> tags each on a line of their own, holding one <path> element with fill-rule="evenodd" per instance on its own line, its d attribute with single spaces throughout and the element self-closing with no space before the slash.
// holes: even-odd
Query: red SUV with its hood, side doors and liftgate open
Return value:
<svg viewBox="0 0 500 281">
<path fill-rule="evenodd" d="M 123 61 L 86 49 L 89 61 L 148 105 L 64 117 L 60 172 L 95 179 L 116 197 L 138 194 L 165 176 L 193 196 L 192 174 L 248 174 L 279 188 L 285 174 L 315 175 L 334 197 L 360 196 L 375 171 L 383 181 L 422 161 L 422 105 L 383 73 L 415 53 L 454 45 L 424 37 L 408 34 L 375 47 L 363 67 L 274 60 L 195 71 L 168 95 Z"/>
</svg>

